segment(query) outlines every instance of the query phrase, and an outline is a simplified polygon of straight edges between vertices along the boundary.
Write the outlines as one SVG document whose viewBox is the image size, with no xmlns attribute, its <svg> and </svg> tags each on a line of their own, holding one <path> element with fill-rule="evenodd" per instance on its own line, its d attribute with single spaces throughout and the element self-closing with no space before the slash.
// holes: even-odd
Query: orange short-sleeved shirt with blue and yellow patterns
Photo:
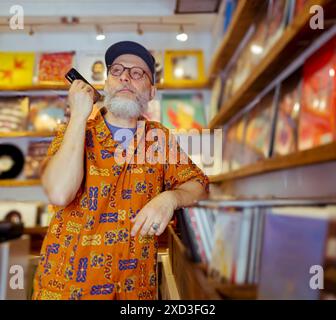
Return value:
<svg viewBox="0 0 336 320">
<path fill-rule="evenodd" d="M 132 157 L 144 156 L 134 146 L 144 143 L 147 150 L 155 140 L 154 155 L 160 148 L 168 154 L 171 143 L 160 143 L 162 137 L 145 142 L 144 137 L 150 129 L 160 128 L 168 141 L 169 131 L 157 122 L 142 123 L 135 143 L 128 146 Z M 61 146 L 65 130 L 63 126 L 58 131 L 45 163 Z M 153 197 L 190 179 L 208 191 L 208 178 L 189 158 L 186 164 L 134 164 L 131 158 L 117 163 L 110 155 L 118 143 L 100 112 L 88 121 L 86 130 L 85 179 L 68 206 L 53 207 L 33 299 L 156 299 L 158 239 L 132 237 L 130 219 Z M 185 156 L 179 146 L 176 155 Z"/>
</svg>

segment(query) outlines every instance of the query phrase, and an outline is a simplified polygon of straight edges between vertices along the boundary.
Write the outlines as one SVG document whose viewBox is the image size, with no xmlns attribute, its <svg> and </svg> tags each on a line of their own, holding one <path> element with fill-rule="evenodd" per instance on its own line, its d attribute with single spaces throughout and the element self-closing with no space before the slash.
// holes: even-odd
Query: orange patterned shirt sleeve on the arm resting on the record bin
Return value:
<svg viewBox="0 0 336 320">
<path fill-rule="evenodd" d="M 173 134 L 169 134 L 166 152 L 164 190 L 176 189 L 183 183 L 193 180 L 209 193 L 209 178 L 182 150 Z"/>
</svg>

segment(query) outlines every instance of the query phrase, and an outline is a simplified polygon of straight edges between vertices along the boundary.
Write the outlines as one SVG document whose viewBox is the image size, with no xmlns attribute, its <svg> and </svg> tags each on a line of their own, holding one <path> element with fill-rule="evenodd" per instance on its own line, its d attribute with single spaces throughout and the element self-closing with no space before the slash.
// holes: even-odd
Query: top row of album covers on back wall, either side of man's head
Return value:
<svg viewBox="0 0 336 320">
<path fill-rule="evenodd" d="M 156 85 L 165 88 L 204 88 L 203 51 L 151 50 L 156 60 Z M 75 67 L 102 90 L 107 70 L 104 52 L 0 52 L 0 91 L 62 90 L 69 88 L 65 74 Z"/>
</svg>

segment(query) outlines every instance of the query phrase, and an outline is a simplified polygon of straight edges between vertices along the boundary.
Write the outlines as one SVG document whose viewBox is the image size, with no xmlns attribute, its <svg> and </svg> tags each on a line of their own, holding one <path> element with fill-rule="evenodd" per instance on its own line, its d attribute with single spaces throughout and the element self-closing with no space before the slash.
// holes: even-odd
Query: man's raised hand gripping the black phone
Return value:
<svg viewBox="0 0 336 320">
<path fill-rule="evenodd" d="M 94 92 L 82 80 L 75 80 L 69 89 L 69 106 L 71 117 L 87 120 L 92 112 Z"/>
</svg>

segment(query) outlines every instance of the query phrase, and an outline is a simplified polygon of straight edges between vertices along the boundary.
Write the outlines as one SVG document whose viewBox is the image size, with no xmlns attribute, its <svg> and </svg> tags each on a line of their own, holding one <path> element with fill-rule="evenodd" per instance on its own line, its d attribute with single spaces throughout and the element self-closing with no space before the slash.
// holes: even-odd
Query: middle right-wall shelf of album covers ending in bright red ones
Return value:
<svg viewBox="0 0 336 320">
<path fill-rule="evenodd" d="M 336 36 L 224 126 L 212 181 L 336 160 Z"/>
</svg>

